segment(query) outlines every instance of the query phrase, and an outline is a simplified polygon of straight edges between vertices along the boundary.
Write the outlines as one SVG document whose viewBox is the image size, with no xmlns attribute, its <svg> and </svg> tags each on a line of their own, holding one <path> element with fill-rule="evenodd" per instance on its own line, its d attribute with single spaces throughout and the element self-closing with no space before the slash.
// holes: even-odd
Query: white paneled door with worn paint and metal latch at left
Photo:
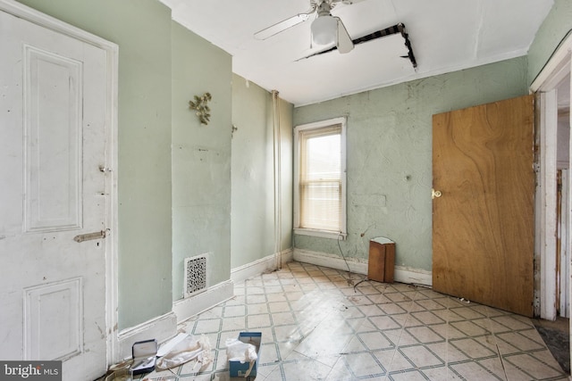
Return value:
<svg viewBox="0 0 572 381">
<path fill-rule="evenodd" d="M 105 50 L 0 12 L 0 359 L 106 368 Z"/>
</svg>

